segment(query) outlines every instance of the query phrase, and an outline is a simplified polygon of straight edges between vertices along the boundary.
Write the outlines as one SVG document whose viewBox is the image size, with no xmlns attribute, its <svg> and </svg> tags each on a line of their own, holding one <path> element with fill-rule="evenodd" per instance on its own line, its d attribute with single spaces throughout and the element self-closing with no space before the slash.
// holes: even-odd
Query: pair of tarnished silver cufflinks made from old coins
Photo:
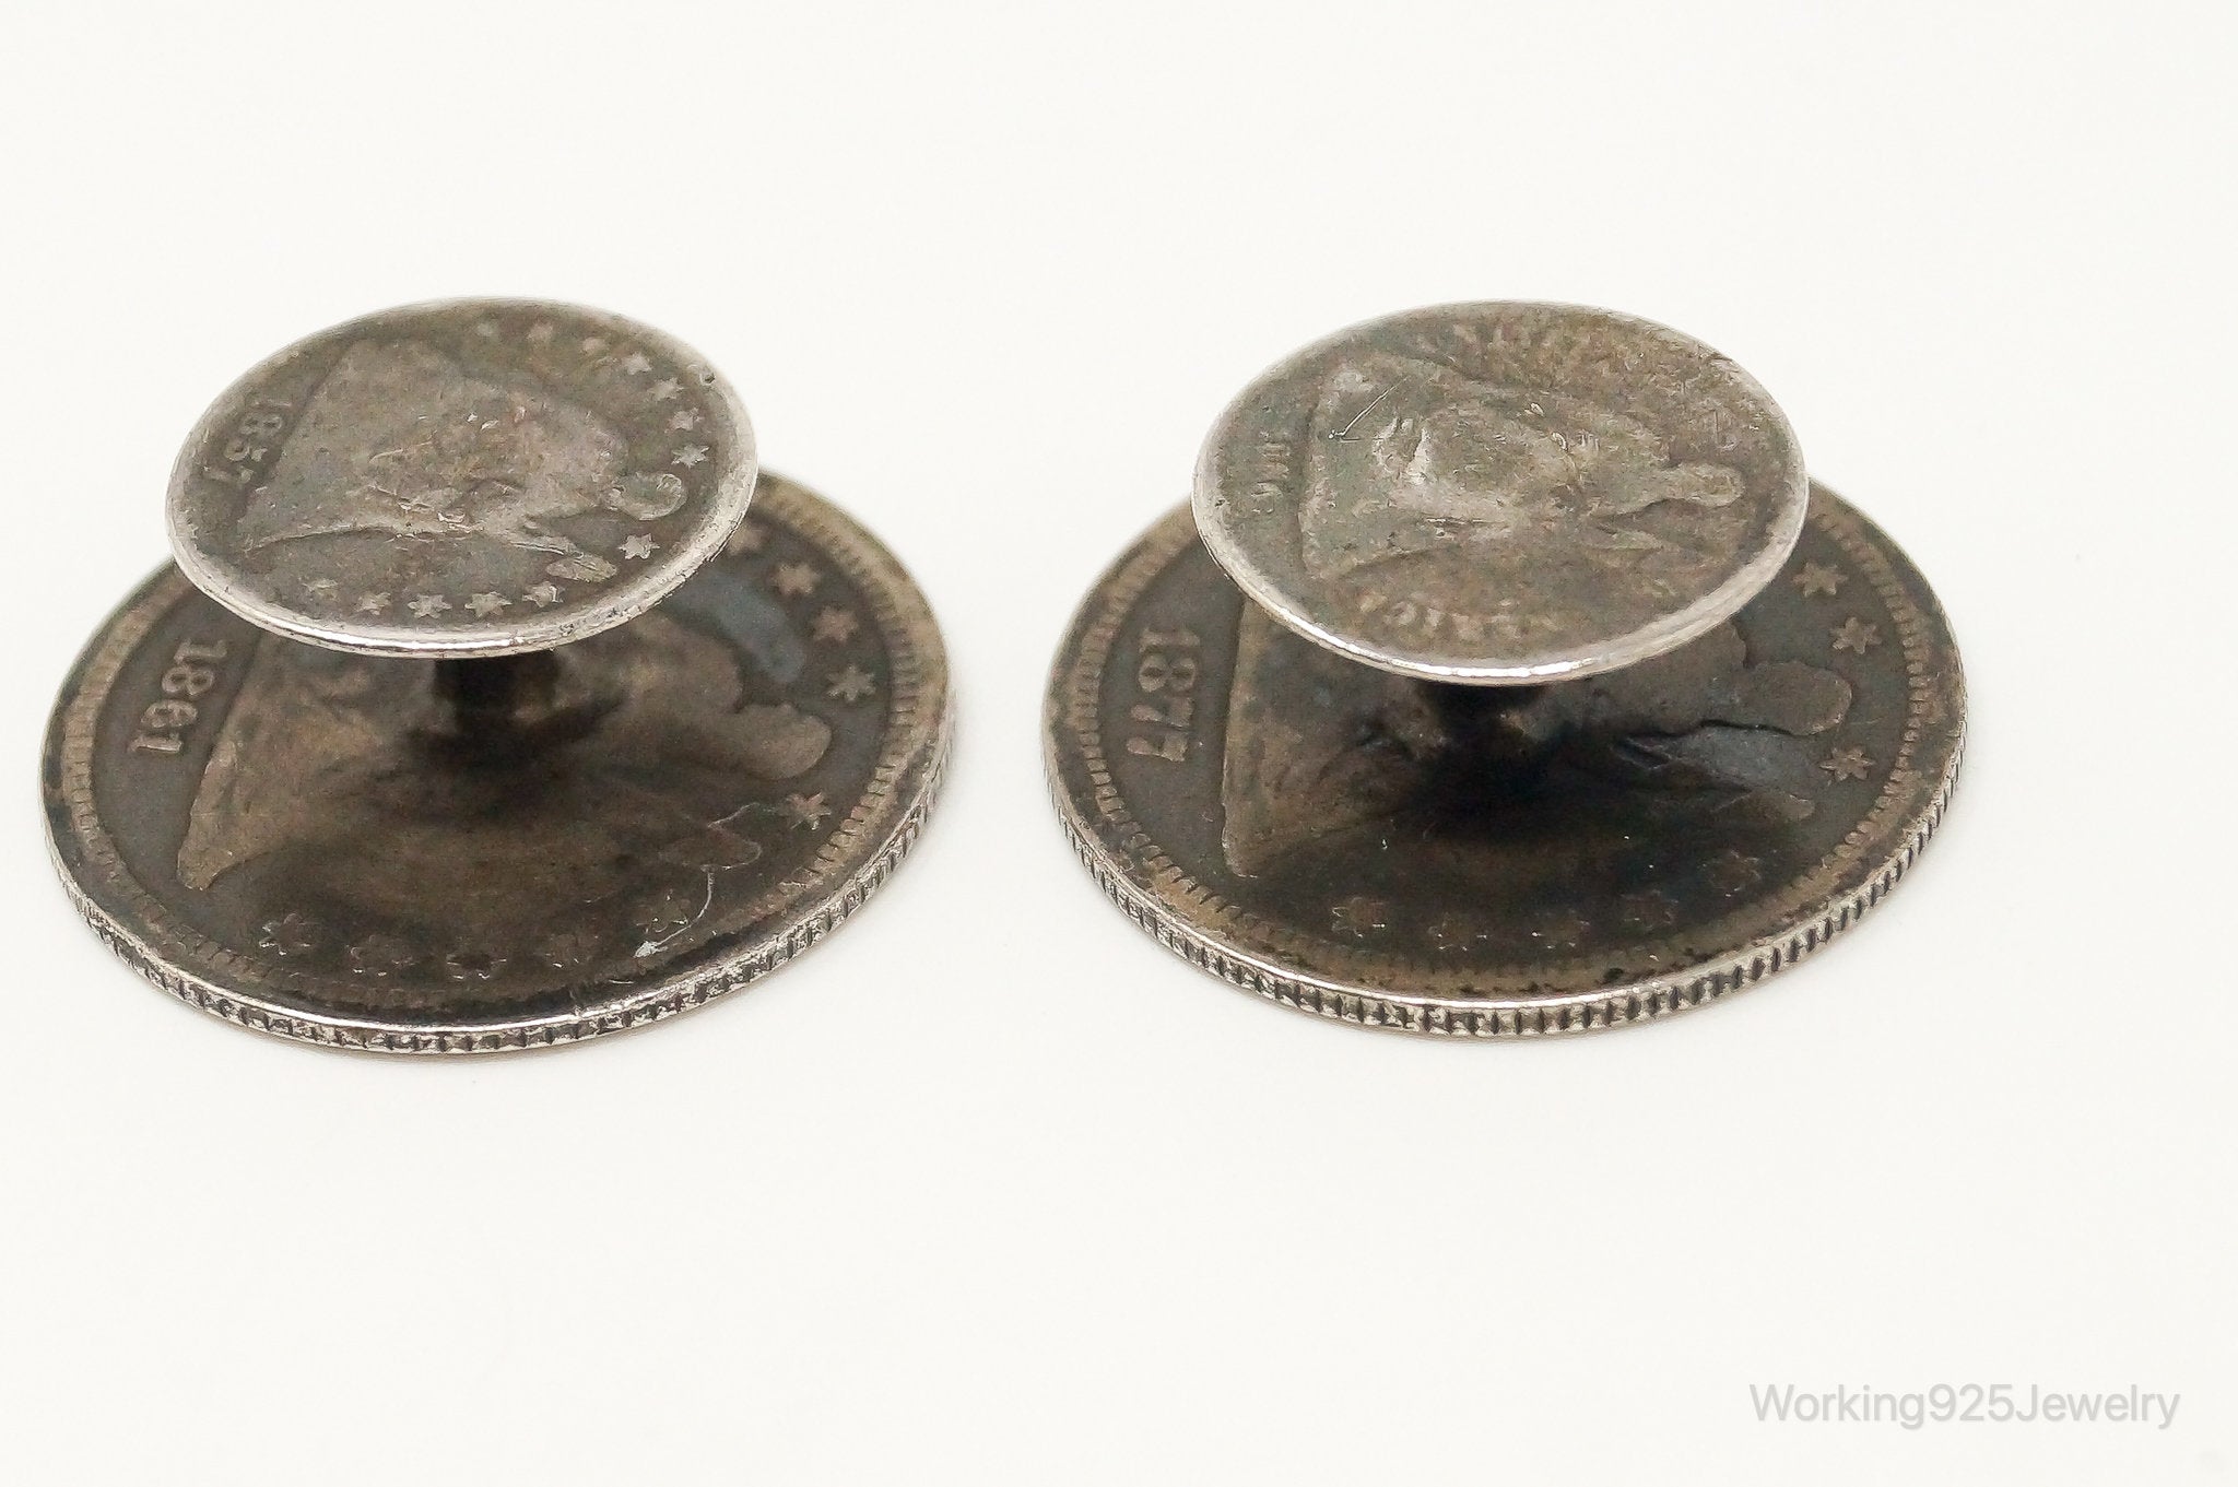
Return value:
<svg viewBox="0 0 2238 1487">
<path fill-rule="evenodd" d="M 168 517 L 177 563 L 63 684 L 47 832 L 94 930 L 228 1022 L 389 1053 L 658 1022 L 841 924 L 938 792 L 922 593 L 649 326 L 333 326 L 204 414 Z M 1244 389 L 1068 628 L 1045 756 L 1097 883 L 1188 962 L 1524 1035 L 1855 924 L 1963 724 L 1927 584 L 1746 371 L 1495 302 Z"/>
</svg>

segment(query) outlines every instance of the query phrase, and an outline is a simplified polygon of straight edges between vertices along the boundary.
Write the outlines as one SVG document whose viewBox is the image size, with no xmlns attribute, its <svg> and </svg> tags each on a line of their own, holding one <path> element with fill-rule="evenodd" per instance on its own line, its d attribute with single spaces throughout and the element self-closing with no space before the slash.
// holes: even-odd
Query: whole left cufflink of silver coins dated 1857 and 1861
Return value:
<svg viewBox="0 0 2238 1487">
<path fill-rule="evenodd" d="M 671 443 L 703 458 L 658 470 Z M 316 335 L 172 494 L 181 563 L 81 657 L 45 796 L 72 899 L 195 1006 L 376 1051 L 575 1042 L 783 964 L 915 841 L 947 747 L 922 595 L 756 483 L 727 387 L 645 326 L 463 302 Z"/>
</svg>

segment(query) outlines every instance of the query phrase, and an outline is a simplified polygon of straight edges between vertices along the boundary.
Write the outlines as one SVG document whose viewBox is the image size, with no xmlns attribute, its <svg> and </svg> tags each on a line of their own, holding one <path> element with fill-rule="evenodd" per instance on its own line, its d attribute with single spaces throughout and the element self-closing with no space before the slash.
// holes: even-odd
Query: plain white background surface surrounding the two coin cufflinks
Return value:
<svg viewBox="0 0 2238 1487">
<path fill-rule="evenodd" d="M 0 38 L 0 1478 L 2238 1480 L 2227 4 L 45 4 Z M 49 698 L 177 441 L 376 306 L 667 326 L 929 590 L 893 885 L 651 1033 L 407 1062 L 139 984 Z M 1954 814 L 1851 939 L 1455 1046 L 1186 968 L 1043 673 L 1264 362 L 1439 300 L 1676 324 L 1940 590 Z M 2180 1391 L 1759 1424 L 1750 1384 Z"/>
</svg>

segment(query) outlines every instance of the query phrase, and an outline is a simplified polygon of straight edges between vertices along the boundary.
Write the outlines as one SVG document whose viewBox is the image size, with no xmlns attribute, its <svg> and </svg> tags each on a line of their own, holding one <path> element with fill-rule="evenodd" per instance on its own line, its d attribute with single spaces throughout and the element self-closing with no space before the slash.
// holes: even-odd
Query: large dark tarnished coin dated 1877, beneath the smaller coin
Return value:
<svg viewBox="0 0 2238 1487">
<path fill-rule="evenodd" d="M 1300 640 L 1184 508 L 1090 593 L 1045 716 L 1065 832 L 1162 944 L 1325 1017 L 1497 1038 L 1699 1006 L 1846 930 L 1943 816 L 1965 689 L 1927 584 L 1826 490 L 1737 615 L 1540 689 Z"/>
</svg>

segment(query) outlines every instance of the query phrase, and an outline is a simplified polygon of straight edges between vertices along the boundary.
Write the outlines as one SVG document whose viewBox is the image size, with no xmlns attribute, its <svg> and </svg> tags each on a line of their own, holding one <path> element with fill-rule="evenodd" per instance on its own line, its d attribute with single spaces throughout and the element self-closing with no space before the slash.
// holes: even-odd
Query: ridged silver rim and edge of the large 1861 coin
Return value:
<svg viewBox="0 0 2238 1487">
<path fill-rule="evenodd" d="M 765 503 L 765 512 L 772 512 L 797 532 L 806 537 L 837 539 L 833 546 L 826 546 L 826 555 L 871 597 L 871 608 L 895 653 L 895 686 L 886 722 L 893 740 L 880 754 L 880 760 L 871 771 L 871 785 L 850 812 L 848 823 L 824 845 L 817 854 L 815 868 L 810 868 L 810 874 L 799 881 L 799 888 L 808 888 L 815 881 L 817 870 L 824 870 L 855 841 L 859 841 L 859 834 L 868 830 L 880 814 L 893 809 L 895 803 L 902 803 L 902 812 L 891 827 L 886 827 L 877 850 L 826 897 L 794 908 L 794 912 L 786 915 L 777 924 L 750 926 L 745 932 L 752 932 L 756 939 L 750 953 L 721 959 L 712 966 L 703 966 L 700 970 L 636 986 L 629 995 L 613 1000 L 609 1006 L 582 1013 L 459 1024 L 401 1024 L 380 1022 L 378 1017 L 329 1017 L 298 1006 L 282 1006 L 271 997 L 260 997 L 251 991 L 219 984 L 206 975 L 166 962 L 143 937 L 130 930 L 105 906 L 94 901 L 94 897 L 83 888 L 78 872 L 72 870 L 63 854 L 63 843 L 56 834 L 56 801 L 49 798 L 43 809 L 47 821 L 47 859 L 54 863 L 56 877 L 63 881 L 63 890 L 69 894 L 72 906 L 119 959 L 123 959 L 145 982 L 170 993 L 179 1002 L 235 1026 L 269 1033 L 273 1038 L 367 1053 L 513 1053 L 564 1046 L 602 1033 L 620 1033 L 665 1022 L 678 1013 L 730 995 L 732 991 L 761 979 L 770 970 L 777 970 L 794 955 L 830 935 L 855 910 L 859 910 L 868 897 L 877 892 L 888 877 L 893 877 L 893 870 L 918 843 L 933 801 L 940 794 L 940 785 L 947 778 L 949 749 L 953 742 L 953 695 L 947 675 L 947 653 L 940 642 L 931 606 L 927 604 L 922 590 L 915 588 L 902 563 L 862 525 L 801 485 L 783 481 L 781 476 L 770 476 L 761 501 Z M 884 572 L 877 568 L 884 568 Z M 161 581 L 161 577 L 163 572 L 159 572 L 152 581 Z M 145 588 L 148 584 L 134 593 L 134 599 Z M 132 599 L 125 604 L 132 604 Z M 130 655 L 132 646 L 139 644 L 145 631 L 154 624 L 154 610 L 148 610 L 137 615 L 132 622 L 116 626 L 103 635 L 98 646 L 87 648 L 87 653 L 72 666 L 69 680 L 63 684 L 63 693 L 76 695 L 67 707 L 58 707 L 47 724 L 45 763 L 58 780 L 49 783 L 43 778 L 43 792 L 58 794 L 60 805 L 67 807 L 76 841 L 85 852 L 87 868 L 98 870 L 123 899 L 134 903 L 134 908 L 150 912 L 157 924 L 166 924 L 168 915 L 139 883 L 132 881 L 123 863 L 116 859 L 107 834 L 101 832 L 98 821 L 92 814 L 92 718 L 87 691 L 81 686 L 85 678 L 103 671 L 103 664 L 114 671 L 114 666 Z M 904 682 L 904 678 L 911 680 Z M 87 716 L 76 716 L 81 711 Z M 199 935 L 195 939 L 201 941 Z M 237 962 L 246 968 L 246 962 L 242 962 L 239 955 L 226 953 L 219 946 L 206 948 L 219 964 Z M 696 957 L 705 957 L 714 948 L 714 944 L 700 946 Z"/>
</svg>

